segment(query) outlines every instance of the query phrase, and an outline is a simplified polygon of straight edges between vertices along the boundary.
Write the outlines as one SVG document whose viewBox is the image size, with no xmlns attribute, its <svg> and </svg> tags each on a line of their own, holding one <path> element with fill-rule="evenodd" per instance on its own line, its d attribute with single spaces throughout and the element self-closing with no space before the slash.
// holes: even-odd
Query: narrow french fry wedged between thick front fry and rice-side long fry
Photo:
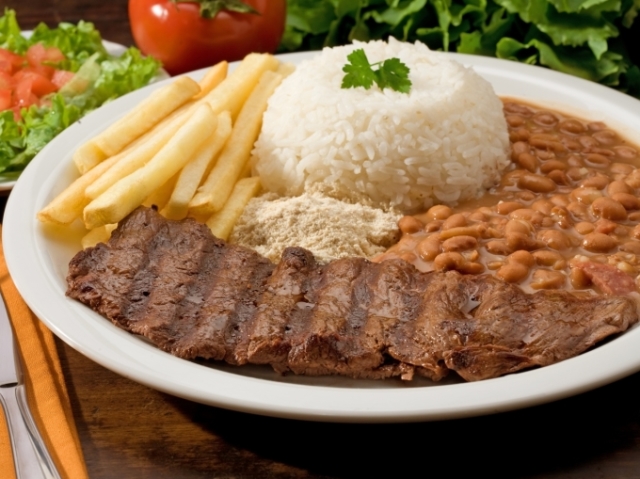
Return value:
<svg viewBox="0 0 640 479">
<path fill-rule="evenodd" d="M 166 218 L 180 220 L 187 216 L 189 202 L 229 135 L 231 135 L 231 114 L 228 111 L 223 111 L 218 115 L 216 130 L 200 146 L 191 161 L 180 172 L 171 198 L 162 210 L 162 214 Z"/>
</svg>

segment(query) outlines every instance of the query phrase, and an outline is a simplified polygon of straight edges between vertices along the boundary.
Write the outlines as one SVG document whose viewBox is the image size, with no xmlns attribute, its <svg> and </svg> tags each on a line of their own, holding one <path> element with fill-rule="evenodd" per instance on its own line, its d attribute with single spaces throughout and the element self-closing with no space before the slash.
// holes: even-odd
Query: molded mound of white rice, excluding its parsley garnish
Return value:
<svg viewBox="0 0 640 479">
<path fill-rule="evenodd" d="M 347 55 L 399 58 L 409 94 L 340 87 Z M 509 138 L 489 82 L 421 43 L 326 48 L 276 90 L 253 150 L 263 186 L 296 196 L 318 183 L 405 212 L 474 198 L 506 168 Z"/>
</svg>

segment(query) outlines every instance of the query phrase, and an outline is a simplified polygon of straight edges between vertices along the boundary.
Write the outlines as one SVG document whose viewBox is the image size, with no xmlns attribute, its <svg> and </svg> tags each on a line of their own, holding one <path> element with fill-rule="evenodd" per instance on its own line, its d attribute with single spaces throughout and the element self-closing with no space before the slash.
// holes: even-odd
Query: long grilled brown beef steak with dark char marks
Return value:
<svg viewBox="0 0 640 479">
<path fill-rule="evenodd" d="M 638 321 L 626 297 L 524 293 L 402 260 L 278 265 L 191 219 L 138 208 L 69 264 L 67 295 L 176 356 L 295 374 L 466 380 L 544 366 Z"/>
</svg>

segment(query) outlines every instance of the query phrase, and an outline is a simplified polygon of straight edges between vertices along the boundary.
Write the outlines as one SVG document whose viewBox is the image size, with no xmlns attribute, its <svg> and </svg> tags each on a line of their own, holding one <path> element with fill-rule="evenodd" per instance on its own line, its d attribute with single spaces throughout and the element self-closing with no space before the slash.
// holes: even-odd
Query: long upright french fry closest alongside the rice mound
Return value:
<svg viewBox="0 0 640 479">
<path fill-rule="evenodd" d="M 263 73 L 243 105 L 217 163 L 189 203 L 195 216 L 211 215 L 226 203 L 258 138 L 267 100 L 281 81 L 282 76 L 275 72 Z"/>
</svg>

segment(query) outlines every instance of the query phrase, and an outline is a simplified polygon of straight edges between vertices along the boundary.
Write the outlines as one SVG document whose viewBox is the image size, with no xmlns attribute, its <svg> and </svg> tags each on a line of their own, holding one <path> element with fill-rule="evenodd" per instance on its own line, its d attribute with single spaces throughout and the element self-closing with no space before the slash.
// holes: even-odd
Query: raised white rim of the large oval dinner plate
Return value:
<svg viewBox="0 0 640 479">
<path fill-rule="evenodd" d="M 316 53 L 284 54 L 279 58 L 298 62 Z M 543 82 L 556 82 L 562 86 L 563 94 L 565 90 L 577 89 L 599 97 L 605 104 L 626 102 L 628 107 L 632 103 L 637 109 L 634 116 L 640 131 L 640 101 L 620 92 L 531 65 L 487 57 L 450 55 L 465 65 L 473 65 L 481 74 L 492 69 L 507 70 L 519 78 L 535 77 Z M 203 71 L 190 75 L 197 77 Z M 18 291 L 56 335 L 93 361 L 153 389 L 192 401 L 274 417 L 334 422 L 425 421 L 504 412 L 572 396 L 640 370 L 640 328 L 634 328 L 575 358 L 479 382 L 423 388 L 400 384 L 388 389 L 294 384 L 227 373 L 175 358 L 64 297 L 60 294 L 59 278 L 49 268 L 47 252 L 38 248 L 38 241 L 44 233 L 35 219 L 35 213 L 45 204 L 47 195 L 51 195 L 56 182 L 55 173 L 68 166 L 63 164 L 64 161 L 54 164 L 53 155 L 60 150 L 68 150 L 74 143 L 72 139 L 75 138 L 75 144 L 79 144 L 82 138 L 91 136 L 96 129 L 104 128 L 106 122 L 112 120 L 111 117 L 103 120 L 104 115 L 121 113 L 125 105 L 132 105 L 162 84 L 125 95 L 90 113 L 81 124 L 72 125 L 62 132 L 27 166 L 9 197 L 5 211 L 2 241 L 7 266 Z M 63 160 L 68 162 L 69 158 L 70 153 Z M 79 326 L 76 324 L 74 328 L 70 326 L 73 323 L 61 315 L 91 319 Z M 95 317 L 102 321 L 94 321 Z M 87 332 L 86 324 L 97 329 Z M 129 347 L 132 349 L 126 349 Z M 610 363 L 612 358 L 617 359 L 613 365 Z M 153 364 L 149 366 L 146 361 Z M 576 368 L 587 370 L 588 374 L 576 374 Z M 189 376 L 190 382 L 185 381 L 185 376 Z M 209 382 L 215 384 L 209 386 Z"/>
</svg>

